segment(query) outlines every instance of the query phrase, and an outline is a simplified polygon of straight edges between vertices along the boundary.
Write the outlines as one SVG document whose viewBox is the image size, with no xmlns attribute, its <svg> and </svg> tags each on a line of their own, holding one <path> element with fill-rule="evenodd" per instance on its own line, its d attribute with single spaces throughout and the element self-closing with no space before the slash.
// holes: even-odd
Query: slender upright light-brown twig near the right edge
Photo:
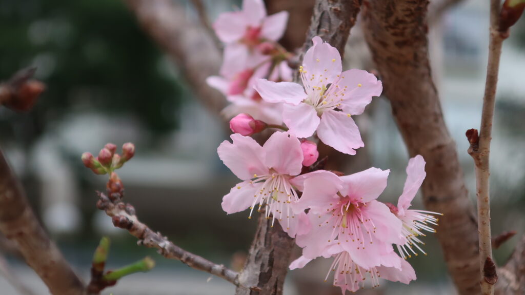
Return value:
<svg viewBox="0 0 525 295">
<path fill-rule="evenodd" d="M 499 30 L 500 1 L 490 1 L 490 40 L 485 81 L 485 95 L 481 111 L 479 137 L 476 130 L 467 131 L 470 142 L 468 153 L 474 159 L 476 172 L 476 196 L 478 201 L 479 263 L 481 268 L 481 294 L 494 294 L 494 284 L 498 280 L 496 266 L 492 262 L 492 238 L 490 235 L 490 187 L 489 156 L 492 139 L 492 120 L 496 101 L 499 61 L 503 40 L 508 32 Z"/>
</svg>

